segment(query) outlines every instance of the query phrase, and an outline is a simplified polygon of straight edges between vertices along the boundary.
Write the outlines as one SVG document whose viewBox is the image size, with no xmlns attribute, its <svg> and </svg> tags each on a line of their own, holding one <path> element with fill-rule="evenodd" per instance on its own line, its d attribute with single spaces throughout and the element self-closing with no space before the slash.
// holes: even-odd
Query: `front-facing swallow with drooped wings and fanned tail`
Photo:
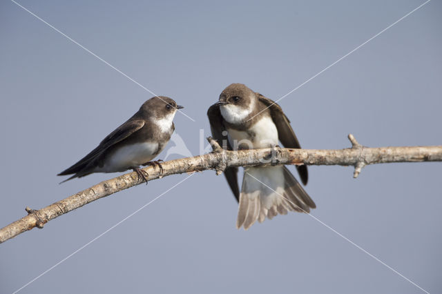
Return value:
<svg viewBox="0 0 442 294">
<path fill-rule="evenodd" d="M 286 148 L 300 148 L 298 138 L 282 108 L 244 84 L 227 86 L 218 102 L 207 111 L 213 138 L 227 150 L 273 148 L 278 141 Z M 224 144 L 226 145 L 226 144 Z M 307 184 L 307 166 L 297 166 L 302 184 Z M 286 166 L 244 168 L 241 191 L 238 168 L 224 170 L 239 202 L 236 227 L 245 230 L 257 220 L 264 222 L 289 210 L 309 213 L 316 204 Z"/>
</svg>

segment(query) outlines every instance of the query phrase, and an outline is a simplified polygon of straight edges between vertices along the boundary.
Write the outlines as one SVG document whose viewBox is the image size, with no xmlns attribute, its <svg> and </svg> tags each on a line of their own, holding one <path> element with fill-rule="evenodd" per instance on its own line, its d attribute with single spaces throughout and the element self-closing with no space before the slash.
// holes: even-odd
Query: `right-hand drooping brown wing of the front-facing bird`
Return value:
<svg viewBox="0 0 442 294">
<path fill-rule="evenodd" d="M 282 112 L 282 108 L 276 104 L 276 102 L 262 96 L 260 93 L 256 93 L 256 95 L 258 95 L 258 99 L 270 109 L 271 118 L 278 129 L 278 138 L 282 145 L 285 148 L 301 148 L 298 138 L 296 138 L 295 132 L 290 126 L 289 119 L 285 116 L 284 112 Z M 298 169 L 302 184 L 306 185 L 309 179 L 307 166 L 296 166 L 296 168 Z"/>
</svg>

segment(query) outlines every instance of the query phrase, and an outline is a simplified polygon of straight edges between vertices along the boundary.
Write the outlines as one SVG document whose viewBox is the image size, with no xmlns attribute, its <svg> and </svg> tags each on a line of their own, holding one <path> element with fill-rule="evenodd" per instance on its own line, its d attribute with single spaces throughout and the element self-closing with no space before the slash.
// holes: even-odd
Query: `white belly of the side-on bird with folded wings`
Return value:
<svg viewBox="0 0 442 294">
<path fill-rule="evenodd" d="M 144 142 L 123 146 L 113 153 L 104 162 L 102 168 L 97 167 L 95 172 L 114 173 L 131 167 L 138 167 L 151 161 L 158 152 L 158 143 Z"/>
</svg>

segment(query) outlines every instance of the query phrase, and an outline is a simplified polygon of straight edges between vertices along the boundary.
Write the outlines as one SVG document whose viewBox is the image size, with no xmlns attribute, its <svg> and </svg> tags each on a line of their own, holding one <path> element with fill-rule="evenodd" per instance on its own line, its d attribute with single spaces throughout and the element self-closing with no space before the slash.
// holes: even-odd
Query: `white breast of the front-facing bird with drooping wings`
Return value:
<svg viewBox="0 0 442 294">
<path fill-rule="evenodd" d="M 278 129 L 269 116 L 263 116 L 256 121 L 248 131 L 227 129 L 231 146 L 248 144 L 250 148 L 268 148 L 278 145 Z"/>
</svg>

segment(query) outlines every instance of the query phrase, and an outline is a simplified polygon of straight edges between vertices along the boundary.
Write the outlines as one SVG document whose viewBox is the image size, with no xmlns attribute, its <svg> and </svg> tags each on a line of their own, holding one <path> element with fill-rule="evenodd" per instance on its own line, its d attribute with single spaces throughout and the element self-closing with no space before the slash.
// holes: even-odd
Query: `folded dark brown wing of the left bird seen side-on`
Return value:
<svg viewBox="0 0 442 294">
<path fill-rule="evenodd" d="M 80 173 L 91 161 L 102 155 L 102 153 L 107 150 L 109 147 L 117 144 L 119 141 L 122 141 L 135 133 L 137 130 L 140 130 L 144 126 L 143 119 L 137 120 L 128 120 L 118 128 L 116 128 L 111 134 L 107 135 L 106 138 L 101 141 L 99 146 L 94 150 L 90 151 L 88 155 L 80 159 L 76 164 L 62 171 L 58 175 L 71 175 L 73 173 Z"/>
</svg>

